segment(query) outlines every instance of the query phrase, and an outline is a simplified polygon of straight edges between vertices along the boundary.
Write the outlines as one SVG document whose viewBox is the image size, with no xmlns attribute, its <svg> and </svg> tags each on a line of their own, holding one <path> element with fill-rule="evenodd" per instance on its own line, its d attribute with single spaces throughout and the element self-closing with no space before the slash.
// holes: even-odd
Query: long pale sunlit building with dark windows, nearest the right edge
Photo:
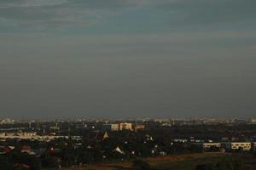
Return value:
<svg viewBox="0 0 256 170">
<path fill-rule="evenodd" d="M 222 144 L 225 150 L 245 150 L 249 151 L 252 148 L 250 142 L 226 142 Z"/>
</svg>

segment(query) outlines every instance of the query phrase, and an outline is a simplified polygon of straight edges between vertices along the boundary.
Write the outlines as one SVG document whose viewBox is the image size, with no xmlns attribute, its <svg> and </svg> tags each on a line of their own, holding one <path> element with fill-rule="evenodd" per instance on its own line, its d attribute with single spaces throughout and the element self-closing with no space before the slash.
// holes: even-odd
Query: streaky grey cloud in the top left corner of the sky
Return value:
<svg viewBox="0 0 256 170">
<path fill-rule="evenodd" d="M 0 16 L 16 27 L 62 27 L 95 24 L 103 15 L 137 7 L 143 0 L 3 0 Z M 0 20 L 1 22 L 1 20 Z"/>
</svg>

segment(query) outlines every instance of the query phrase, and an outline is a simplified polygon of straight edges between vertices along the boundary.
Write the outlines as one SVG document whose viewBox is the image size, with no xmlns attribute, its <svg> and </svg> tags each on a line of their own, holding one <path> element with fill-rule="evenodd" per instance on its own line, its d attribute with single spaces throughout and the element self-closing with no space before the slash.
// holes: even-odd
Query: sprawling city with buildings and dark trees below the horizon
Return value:
<svg viewBox="0 0 256 170">
<path fill-rule="evenodd" d="M 254 118 L 0 121 L 0 161 L 6 169 L 86 167 L 173 154 L 247 156 L 255 152 Z"/>
</svg>

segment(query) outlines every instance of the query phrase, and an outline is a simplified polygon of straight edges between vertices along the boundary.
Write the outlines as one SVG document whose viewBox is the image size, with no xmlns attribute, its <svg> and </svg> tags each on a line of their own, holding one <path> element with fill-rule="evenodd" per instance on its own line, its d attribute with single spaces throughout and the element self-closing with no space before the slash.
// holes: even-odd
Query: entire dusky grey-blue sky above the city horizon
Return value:
<svg viewBox="0 0 256 170">
<path fill-rule="evenodd" d="M 1 0 L 0 118 L 256 115 L 255 0 Z"/>
</svg>

